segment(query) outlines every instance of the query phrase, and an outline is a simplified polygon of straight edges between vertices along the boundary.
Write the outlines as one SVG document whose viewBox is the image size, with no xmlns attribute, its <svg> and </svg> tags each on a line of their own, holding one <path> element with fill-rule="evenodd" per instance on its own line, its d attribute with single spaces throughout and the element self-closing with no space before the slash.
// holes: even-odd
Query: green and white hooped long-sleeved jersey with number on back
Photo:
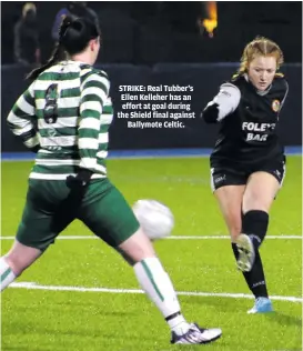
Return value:
<svg viewBox="0 0 303 351">
<path fill-rule="evenodd" d="M 113 118 L 104 71 L 62 61 L 42 72 L 8 117 L 28 148 L 40 146 L 32 179 L 64 180 L 79 167 L 107 177 L 109 128 Z"/>
</svg>

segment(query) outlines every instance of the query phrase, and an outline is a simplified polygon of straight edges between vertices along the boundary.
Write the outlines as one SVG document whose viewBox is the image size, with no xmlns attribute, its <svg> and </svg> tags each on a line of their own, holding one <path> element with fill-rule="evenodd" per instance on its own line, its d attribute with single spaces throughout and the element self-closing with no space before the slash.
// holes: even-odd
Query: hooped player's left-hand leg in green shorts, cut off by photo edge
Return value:
<svg viewBox="0 0 303 351">
<path fill-rule="evenodd" d="M 74 219 L 77 199 L 65 182 L 30 180 L 16 241 L 0 258 L 1 291 L 30 267 Z"/>
</svg>

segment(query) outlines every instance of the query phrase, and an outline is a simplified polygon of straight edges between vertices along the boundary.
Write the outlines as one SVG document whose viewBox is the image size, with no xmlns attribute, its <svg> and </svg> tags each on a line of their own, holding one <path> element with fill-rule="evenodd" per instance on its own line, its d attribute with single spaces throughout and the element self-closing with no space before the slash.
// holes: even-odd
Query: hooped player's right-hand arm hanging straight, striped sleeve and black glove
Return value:
<svg viewBox="0 0 303 351">
<path fill-rule="evenodd" d="M 91 73 L 81 84 L 80 122 L 78 128 L 78 148 L 80 170 L 78 185 L 85 185 L 94 172 L 102 171 L 97 162 L 101 114 L 110 90 L 104 73 Z M 70 178 L 71 180 L 71 178 Z"/>
</svg>

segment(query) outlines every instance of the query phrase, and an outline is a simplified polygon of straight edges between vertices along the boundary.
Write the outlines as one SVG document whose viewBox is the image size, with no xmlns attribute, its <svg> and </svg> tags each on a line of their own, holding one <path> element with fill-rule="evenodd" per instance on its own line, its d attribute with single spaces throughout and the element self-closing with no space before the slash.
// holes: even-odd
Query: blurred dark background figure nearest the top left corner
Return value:
<svg viewBox="0 0 303 351">
<path fill-rule="evenodd" d="M 39 31 L 37 26 L 37 8 L 27 2 L 21 19 L 13 28 L 14 61 L 21 64 L 40 63 Z"/>
</svg>

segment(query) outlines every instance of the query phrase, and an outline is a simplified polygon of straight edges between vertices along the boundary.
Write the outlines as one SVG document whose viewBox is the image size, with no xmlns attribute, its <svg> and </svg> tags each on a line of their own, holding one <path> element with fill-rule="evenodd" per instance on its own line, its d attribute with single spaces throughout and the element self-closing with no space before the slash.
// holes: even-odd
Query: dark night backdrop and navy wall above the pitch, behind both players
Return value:
<svg viewBox="0 0 303 351">
<path fill-rule="evenodd" d="M 216 127 L 199 119 L 205 103 L 223 81 L 238 69 L 245 43 L 255 36 L 267 36 L 283 49 L 283 67 L 290 82 L 290 94 L 281 116 L 281 137 L 287 146 L 302 140 L 302 4 L 301 2 L 89 2 L 98 14 L 102 30 L 102 49 L 98 67 L 111 79 L 115 113 L 121 111 L 120 84 L 193 86 L 192 111 L 198 118 L 185 121 L 185 129 L 128 129 L 115 119 L 110 148 L 211 148 Z M 51 28 L 55 13 L 65 2 L 37 2 L 37 21 L 42 61 L 53 48 Z M 27 87 L 23 80 L 29 67 L 13 62 L 13 23 L 20 18 L 22 2 L 2 2 L 2 113 L 6 116 L 16 97 Z M 215 13 L 213 13 L 216 11 Z M 216 18 L 218 27 L 210 38 L 203 19 Z M 148 102 L 148 101 L 147 101 Z M 24 151 L 8 132 L 2 118 L 2 150 Z"/>
</svg>

